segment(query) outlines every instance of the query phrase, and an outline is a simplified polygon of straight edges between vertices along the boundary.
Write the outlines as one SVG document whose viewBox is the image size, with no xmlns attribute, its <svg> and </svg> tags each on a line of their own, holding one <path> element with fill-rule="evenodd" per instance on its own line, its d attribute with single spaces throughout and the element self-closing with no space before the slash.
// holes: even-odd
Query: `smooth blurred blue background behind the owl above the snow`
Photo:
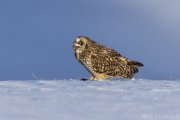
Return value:
<svg viewBox="0 0 180 120">
<path fill-rule="evenodd" d="M 0 80 L 75 79 L 78 35 L 144 63 L 135 78 L 180 79 L 180 1 L 1 0 Z"/>
</svg>

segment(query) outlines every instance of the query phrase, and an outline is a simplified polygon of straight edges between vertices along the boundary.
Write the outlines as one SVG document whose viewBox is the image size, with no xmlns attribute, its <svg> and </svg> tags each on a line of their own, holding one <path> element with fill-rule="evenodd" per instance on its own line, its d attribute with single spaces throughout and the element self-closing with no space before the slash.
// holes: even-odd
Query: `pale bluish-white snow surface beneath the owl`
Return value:
<svg viewBox="0 0 180 120">
<path fill-rule="evenodd" d="M 0 81 L 0 120 L 180 120 L 180 81 Z"/>
</svg>

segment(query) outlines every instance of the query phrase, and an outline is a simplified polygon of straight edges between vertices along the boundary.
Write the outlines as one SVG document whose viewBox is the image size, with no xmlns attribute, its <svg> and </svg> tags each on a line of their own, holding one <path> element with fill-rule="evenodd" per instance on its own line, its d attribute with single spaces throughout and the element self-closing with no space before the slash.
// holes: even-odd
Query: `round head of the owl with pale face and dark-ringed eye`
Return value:
<svg viewBox="0 0 180 120">
<path fill-rule="evenodd" d="M 73 43 L 73 50 L 76 53 L 82 53 L 84 50 L 87 49 L 88 46 L 96 44 L 95 41 L 91 40 L 89 37 L 86 36 L 78 36 Z"/>
</svg>

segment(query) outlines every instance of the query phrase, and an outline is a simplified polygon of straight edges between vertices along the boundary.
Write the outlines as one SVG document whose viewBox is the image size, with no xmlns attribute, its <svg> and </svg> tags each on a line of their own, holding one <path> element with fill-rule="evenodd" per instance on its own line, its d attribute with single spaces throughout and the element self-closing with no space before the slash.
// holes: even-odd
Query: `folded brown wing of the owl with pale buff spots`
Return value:
<svg viewBox="0 0 180 120">
<path fill-rule="evenodd" d="M 92 67 L 96 73 L 108 76 L 132 78 L 138 72 L 137 67 L 128 65 L 128 59 L 113 49 L 99 50 L 97 55 L 91 55 Z"/>
</svg>

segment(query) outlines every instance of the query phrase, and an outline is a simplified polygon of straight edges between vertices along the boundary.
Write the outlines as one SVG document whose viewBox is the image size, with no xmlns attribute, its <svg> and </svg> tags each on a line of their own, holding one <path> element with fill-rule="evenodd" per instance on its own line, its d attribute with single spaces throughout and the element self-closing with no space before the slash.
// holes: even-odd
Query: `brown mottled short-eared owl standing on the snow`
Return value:
<svg viewBox="0 0 180 120">
<path fill-rule="evenodd" d="M 77 60 L 91 73 L 90 80 L 108 77 L 131 79 L 143 64 L 131 61 L 114 49 L 107 48 L 86 36 L 78 36 L 73 43 Z"/>
</svg>

